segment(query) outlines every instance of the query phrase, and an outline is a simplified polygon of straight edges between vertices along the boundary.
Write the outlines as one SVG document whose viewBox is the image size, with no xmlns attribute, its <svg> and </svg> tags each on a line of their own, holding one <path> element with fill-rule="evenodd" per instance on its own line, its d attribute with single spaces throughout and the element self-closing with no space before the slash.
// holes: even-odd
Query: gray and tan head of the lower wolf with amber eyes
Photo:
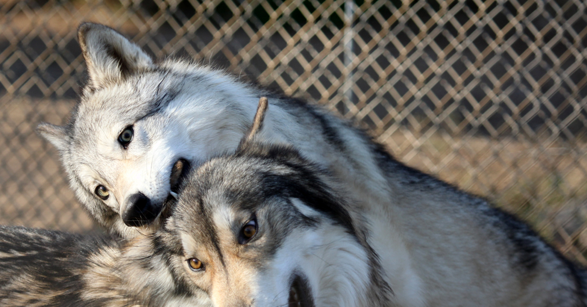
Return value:
<svg viewBox="0 0 587 307">
<path fill-rule="evenodd" d="M 379 306 L 377 257 L 328 178 L 289 147 L 248 143 L 186 180 L 160 242 L 214 306 Z"/>
</svg>

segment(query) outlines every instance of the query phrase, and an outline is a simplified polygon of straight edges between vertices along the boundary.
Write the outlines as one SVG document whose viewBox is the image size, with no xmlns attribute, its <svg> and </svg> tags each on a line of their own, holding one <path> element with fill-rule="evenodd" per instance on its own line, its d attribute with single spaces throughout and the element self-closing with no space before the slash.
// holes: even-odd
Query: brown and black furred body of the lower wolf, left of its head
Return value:
<svg viewBox="0 0 587 307">
<path fill-rule="evenodd" d="M 210 306 L 174 276 L 153 239 L 0 226 L 0 306 Z"/>
</svg>

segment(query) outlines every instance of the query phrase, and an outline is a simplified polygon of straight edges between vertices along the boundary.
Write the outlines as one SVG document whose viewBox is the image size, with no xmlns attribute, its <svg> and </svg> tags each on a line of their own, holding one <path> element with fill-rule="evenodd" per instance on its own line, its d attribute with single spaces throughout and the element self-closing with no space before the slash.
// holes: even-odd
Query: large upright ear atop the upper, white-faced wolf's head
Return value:
<svg viewBox="0 0 587 307">
<path fill-rule="evenodd" d="M 77 38 L 93 89 L 153 66 L 153 59 L 119 32 L 97 23 L 82 23 Z"/>
</svg>

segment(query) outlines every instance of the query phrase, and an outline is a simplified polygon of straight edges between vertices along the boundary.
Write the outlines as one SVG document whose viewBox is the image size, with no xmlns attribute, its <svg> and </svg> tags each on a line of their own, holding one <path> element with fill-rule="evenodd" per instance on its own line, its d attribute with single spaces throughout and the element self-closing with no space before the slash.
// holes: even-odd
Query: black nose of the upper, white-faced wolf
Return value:
<svg viewBox="0 0 587 307">
<path fill-rule="evenodd" d="M 149 197 L 143 193 L 130 195 L 125 204 L 126 211 L 122 214 L 122 220 L 130 227 L 150 224 L 161 211 L 161 206 L 151 203 Z"/>
</svg>

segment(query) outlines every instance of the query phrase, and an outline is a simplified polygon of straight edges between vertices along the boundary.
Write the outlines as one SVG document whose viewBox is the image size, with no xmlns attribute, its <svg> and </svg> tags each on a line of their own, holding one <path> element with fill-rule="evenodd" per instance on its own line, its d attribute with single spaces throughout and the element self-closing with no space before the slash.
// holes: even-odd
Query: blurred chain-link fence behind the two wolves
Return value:
<svg viewBox="0 0 587 307">
<path fill-rule="evenodd" d="M 583 0 L 0 0 L 0 224 L 93 227 L 56 151 L 80 22 L 321 103 L 587 264 Z"/>
</svg>

